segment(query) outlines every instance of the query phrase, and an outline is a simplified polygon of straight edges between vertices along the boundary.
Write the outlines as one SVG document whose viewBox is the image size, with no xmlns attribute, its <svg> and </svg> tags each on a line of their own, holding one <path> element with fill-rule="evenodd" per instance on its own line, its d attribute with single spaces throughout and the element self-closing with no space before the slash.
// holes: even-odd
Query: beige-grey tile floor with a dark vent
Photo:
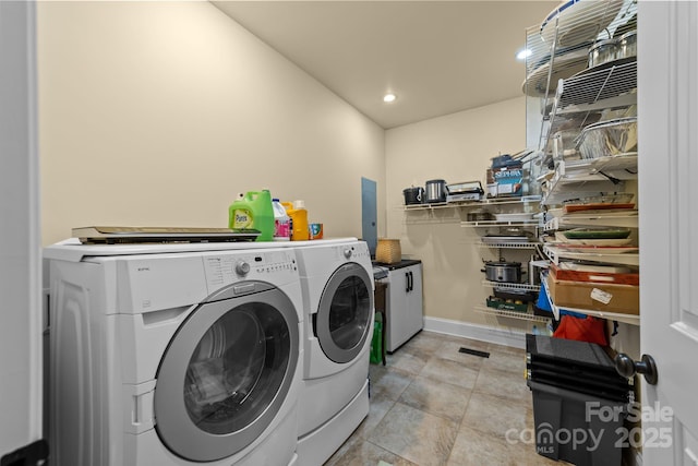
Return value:
<svg viewBox="0 0 698 466">
<path fill-rule="evenodd" d="M 489 358 L 459 353 L 489 351 Z M 326 466 L 562 465 L 535 445 L 525 351 L 422 331 L 371 365 L 371 410 Z M 513 434 L 514 432 L 514 434 Z"/>
</svg>

